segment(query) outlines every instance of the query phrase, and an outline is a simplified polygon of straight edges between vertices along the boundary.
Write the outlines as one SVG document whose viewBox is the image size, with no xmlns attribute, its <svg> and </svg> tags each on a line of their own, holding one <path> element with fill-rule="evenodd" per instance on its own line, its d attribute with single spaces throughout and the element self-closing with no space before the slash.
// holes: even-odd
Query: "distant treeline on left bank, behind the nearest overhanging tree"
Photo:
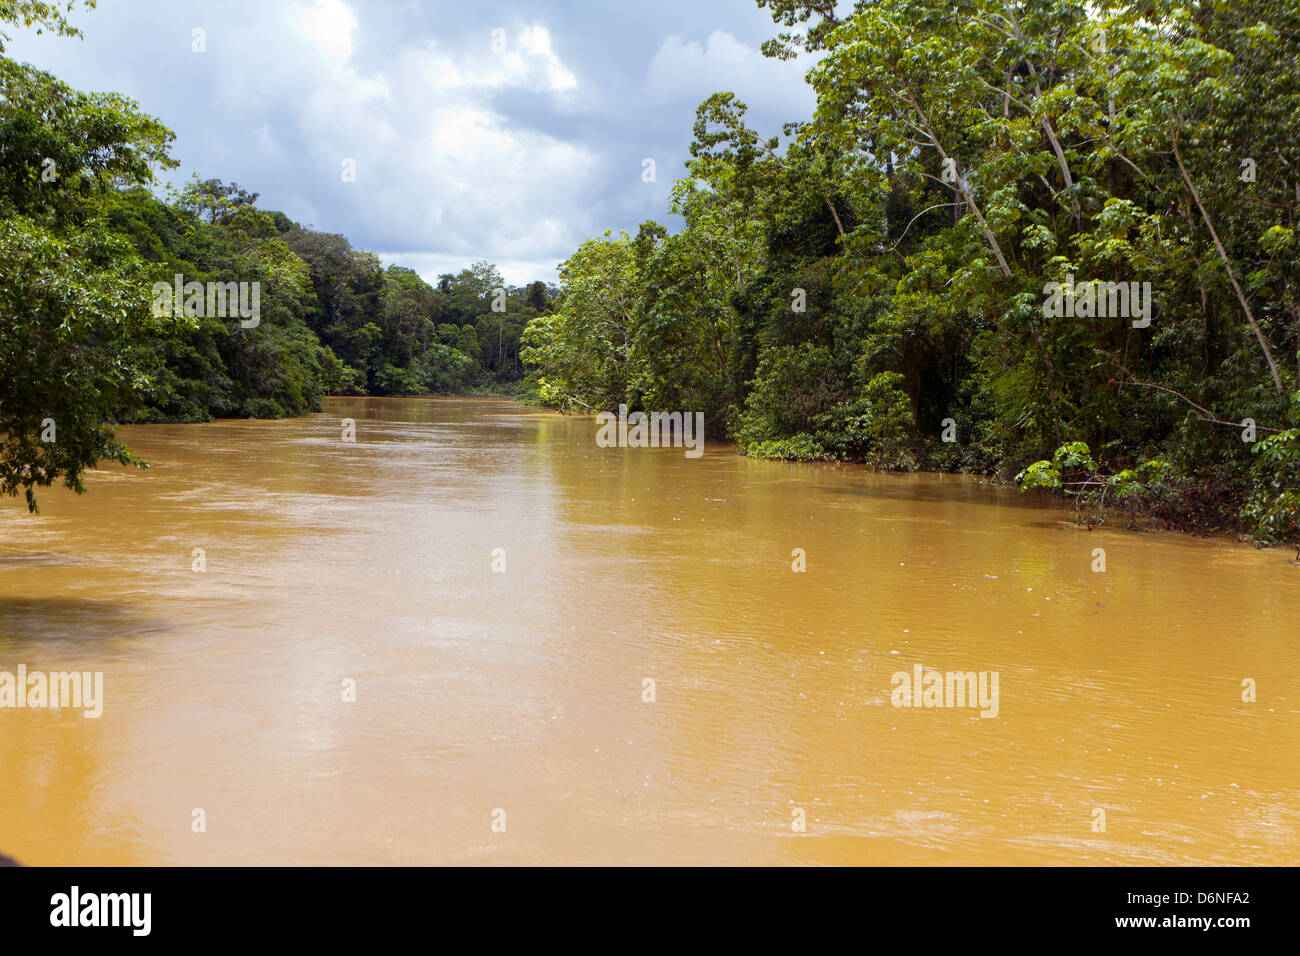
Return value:
<svg viewBox="0 0 1300 956">
<path fill-rule="evenodd" d="M 216 179 L 170 202 L 139 187 L 104 198 L 107 229 L 130 241 L 151 278 L 259 282 L 261 293 L 254 328 L 181 315 L 139 337 L 150 392 L 118 420 L 304 415 L 324 394 L 465 392 L 523 377 L 520 334 L 554 297 L 543 282 L 507 286 L 476 263 L 430 286 L 256 200 Z"/>
</svg>

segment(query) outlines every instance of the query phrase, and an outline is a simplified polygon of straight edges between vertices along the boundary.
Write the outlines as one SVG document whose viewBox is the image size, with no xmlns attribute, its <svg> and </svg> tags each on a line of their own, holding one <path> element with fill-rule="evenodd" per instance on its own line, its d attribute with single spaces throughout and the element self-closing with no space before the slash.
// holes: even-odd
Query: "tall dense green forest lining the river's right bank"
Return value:
<svg viewBox="0 0 1300 956">
<path fill-rule="evenodd" d="M 1296 536 L 1300 8 L 759 4 L 806 27 L 764 52 L 816 52 L 815 114 L 699 107 L 685 228 L 585 242 L 529 325 L 545 401 L 1005 477 L 1076 442 L 1132 509 Z M 1067 281 L 1149 284 L 1149 324 L 1052 310 Z"/>
</svg>

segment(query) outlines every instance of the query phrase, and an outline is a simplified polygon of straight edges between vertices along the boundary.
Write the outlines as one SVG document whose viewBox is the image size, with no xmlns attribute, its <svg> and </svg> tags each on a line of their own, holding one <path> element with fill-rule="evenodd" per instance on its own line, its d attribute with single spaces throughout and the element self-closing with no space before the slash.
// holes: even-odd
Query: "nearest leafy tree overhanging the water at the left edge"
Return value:
<svg viewBox="0 0 1300 956">
<path fill-rule="evenodd" d="M 0 22 L 75 35 L 30 0 L 0 0 Z M 99 216 L 117 183 L 174 165 L 170 139 L 122 96 L 0 56 L 0 492 L 22 490 L 32 511 L 35 488 L 81 492 L 101 459 L 139 463 L 104 423 L 148 388 L 147 272 Z"/>
</svg>

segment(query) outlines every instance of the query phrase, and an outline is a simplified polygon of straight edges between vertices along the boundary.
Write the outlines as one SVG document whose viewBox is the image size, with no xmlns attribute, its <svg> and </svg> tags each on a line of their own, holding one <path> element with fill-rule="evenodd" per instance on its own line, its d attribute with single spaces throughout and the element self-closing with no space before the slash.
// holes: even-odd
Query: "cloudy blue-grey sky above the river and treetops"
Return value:
<svg viewBox="0 0 1300 956">
<path fill-rule="evenodd" d="M 556 282 L 585 238 L 675 228 L 718 90 L 762 135 L 814 108 L 809 62 L 759 52 L 780 27 L 754 0 L 100 0 L 72 20 L 84 39 L 12 29 L 6 55 L 159 117 L 168 179 L 237 182 L 430 282 L 482 259 Z"/>
</svg>

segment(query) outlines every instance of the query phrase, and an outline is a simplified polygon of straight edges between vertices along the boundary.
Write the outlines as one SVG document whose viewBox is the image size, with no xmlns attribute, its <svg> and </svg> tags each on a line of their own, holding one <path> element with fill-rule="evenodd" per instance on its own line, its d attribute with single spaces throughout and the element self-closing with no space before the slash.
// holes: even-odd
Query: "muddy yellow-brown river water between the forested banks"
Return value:
<svg viewBox="0 0 1300 956">
<path fill-rule="evenodd" d="M 0 852 L 1300 864 L 1290 551 L 595 431 L 330 399 L 122 428 L 151 470 L 5 499 L 0 671 L 104 701 L 0 709 Z M 996 715 L 894 706 L 918 665 L 997 672 Z"/>
</svg>

